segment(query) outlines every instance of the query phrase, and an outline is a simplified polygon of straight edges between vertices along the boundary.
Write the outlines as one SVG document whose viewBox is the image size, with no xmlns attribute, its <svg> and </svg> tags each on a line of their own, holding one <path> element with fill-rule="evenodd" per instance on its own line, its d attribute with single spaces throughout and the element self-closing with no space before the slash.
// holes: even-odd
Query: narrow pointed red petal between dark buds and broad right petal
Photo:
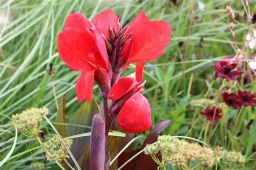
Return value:
<svg viewBox="0 0 256 170">
<path fill-rule="evenodd" d="M 133 52 L 132 56 L 137 54 L 144 45 L 146 41 L 148 31 L 150 29 L 149 21 L 147 20 L 147 16 L 144 12 L 140 12 L 136 18 L 132 21 L 129 29 L 127 30 L 126 35 L 133 33 Z"/>
</svg>

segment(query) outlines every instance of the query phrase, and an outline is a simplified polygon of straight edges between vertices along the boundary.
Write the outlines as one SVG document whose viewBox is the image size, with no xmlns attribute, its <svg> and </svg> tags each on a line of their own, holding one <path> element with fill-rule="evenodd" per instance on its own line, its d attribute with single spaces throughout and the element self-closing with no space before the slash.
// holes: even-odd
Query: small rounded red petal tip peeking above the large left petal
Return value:
<svg viewBox="0 0 256 170">
<path fill-rule="evenodd" d="M 86 28 L 92 28 L 93 23 L 90 22 L 86 16 L 79 12 L 75 12 L 73 14 L 70 14 L 68 18 L 66 19 L 65 28 L 77 28 L 80 30 L 86 29 Z"/>
</svg>

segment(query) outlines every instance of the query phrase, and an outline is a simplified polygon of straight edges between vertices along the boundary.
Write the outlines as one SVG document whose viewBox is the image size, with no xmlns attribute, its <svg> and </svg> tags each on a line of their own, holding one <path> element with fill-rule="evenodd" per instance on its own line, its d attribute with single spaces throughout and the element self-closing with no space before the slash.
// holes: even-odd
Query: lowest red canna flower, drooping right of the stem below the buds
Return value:
<svg viewBox="0 0 256 170">
<path fill-rule="evenodd" d="M 110 112 L 117 115 L 117 124 L 128 133 L 141 133 L 152 125 L 151 109 L 147 99 L 140 93 L 143 84 L 133 78 L 121 78 L 110 91 L 114 100 Z"/>
</svg>

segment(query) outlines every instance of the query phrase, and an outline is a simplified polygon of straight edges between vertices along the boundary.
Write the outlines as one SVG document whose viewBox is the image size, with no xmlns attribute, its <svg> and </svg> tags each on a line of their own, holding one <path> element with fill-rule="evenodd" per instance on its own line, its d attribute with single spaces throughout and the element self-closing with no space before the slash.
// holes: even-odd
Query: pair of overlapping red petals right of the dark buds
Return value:
<svg viewBox="0 0 256 170">
<path fill-rule="evenodd" d="M 148 21 L 146 15 L 141 12 L 131 23 L 127 31 L 127 34 L 129 33 L 133 33 L 134 39 L 130 62 L 152 61 L 164 53 L 170 41 L 172 27 L 166 21 Z"/>
</svg>

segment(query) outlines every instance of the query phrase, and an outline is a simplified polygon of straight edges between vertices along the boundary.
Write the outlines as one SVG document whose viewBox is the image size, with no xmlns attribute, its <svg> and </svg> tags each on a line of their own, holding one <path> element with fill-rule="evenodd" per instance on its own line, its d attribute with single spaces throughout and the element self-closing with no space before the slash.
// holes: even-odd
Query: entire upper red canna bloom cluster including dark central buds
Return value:
<svg viewBox="0 0 256 170">
<path fill-rule="evenodd" d="M 92 21 L 78 12 L 69 15 L 58 35 L 57 47 L 62 61 L 82 71 L 76 84 L 78 100 L 91 101 L 93 80 L 102 89 L 114 85 L 131 62 L 137 63 L 136 77 L 142 80 L 144 62 L 163 54 L 171 32 L 167 22 L 148 21 L 143 12 L 124 28 L 111 10 L 101 12 Z"/>
</svg>

